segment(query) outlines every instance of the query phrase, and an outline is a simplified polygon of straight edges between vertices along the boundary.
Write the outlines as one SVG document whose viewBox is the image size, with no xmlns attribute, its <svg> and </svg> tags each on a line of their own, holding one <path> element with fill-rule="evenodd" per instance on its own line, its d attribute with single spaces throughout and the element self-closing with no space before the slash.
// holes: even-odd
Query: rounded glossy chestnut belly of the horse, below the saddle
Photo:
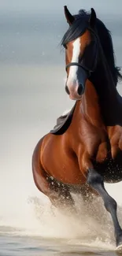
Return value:
<svg viewBox="0 0 122 256">
<path fill-rule="evenodd" d="M 46 138 L 45 143 L 41 161 L 46 173 L 64 184 L 84 184 L 86 178 L 80 172 L 76 155 L 61 145 L 60 136 Z"/>
</svg>

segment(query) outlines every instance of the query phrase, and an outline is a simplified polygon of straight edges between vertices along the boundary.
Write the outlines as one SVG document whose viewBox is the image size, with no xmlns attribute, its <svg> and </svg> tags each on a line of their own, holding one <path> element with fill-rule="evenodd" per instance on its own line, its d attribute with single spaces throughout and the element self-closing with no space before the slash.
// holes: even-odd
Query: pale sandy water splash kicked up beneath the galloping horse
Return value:
<svg viewBox="0 0 122 256">
<path fill-rule="evenodd" d="M 35 236 L 43 239 L 65 240 L 67 244 L 77 244 L 90 247 L 101 247 L 113 250 L 115 239 L 113 223 L 109 213 L 105 211 L 101 198 L 94 198 L 93 202 L 85 205 L 81 196 L 73 195 L 76 201 L 76 214 L 69 210 L 57 210 L 49 200 L 39 197 L 28 198 L 28 218 L 24 216 L 20 222 L 11 222 L 13 228 L 7 232 L 14 236 Z M 27 211 L 27 209 L 26 209 Z M 122 224 L 122 209 L 118 214 Z"/>
</svg>

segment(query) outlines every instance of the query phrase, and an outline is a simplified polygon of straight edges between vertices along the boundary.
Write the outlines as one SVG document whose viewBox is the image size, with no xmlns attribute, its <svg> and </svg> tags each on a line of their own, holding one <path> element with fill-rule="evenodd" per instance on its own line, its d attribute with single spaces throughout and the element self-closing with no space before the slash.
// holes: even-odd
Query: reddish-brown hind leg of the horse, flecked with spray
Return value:
<svg viewBox="0 0 122 256">
<path fill-rule="evenodd" d="M 65 184 L 58 183 L 52 177 L 48 176 L 40 163 L 40 150 L 43 139 L 39 140 L 39 143 L 35 147 L 32 156 L 32 172 L 35 180 L 35 185 L 38 187 L 39 191 L 43 192 L 52 204 L 56 207 L 74 207 L 74 201 L 68 186 Z"/>
</svg>

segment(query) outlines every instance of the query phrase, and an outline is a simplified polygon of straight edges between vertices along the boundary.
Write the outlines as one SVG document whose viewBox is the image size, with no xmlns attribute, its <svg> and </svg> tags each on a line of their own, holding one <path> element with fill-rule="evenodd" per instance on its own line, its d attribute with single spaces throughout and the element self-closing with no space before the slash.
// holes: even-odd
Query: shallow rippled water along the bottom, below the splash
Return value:
<svg viewBox="0 0 122 256">
<path fill-rule="evenodd" d="M 70 242 L 70 241 L 69 241 Z M 57 239 L 41 239 L 30 237 L 0 237 L 1 255 L 35 255 L 35 256 L 113 256 L 116 252 L 112 249 L 92 247 L 82 243 L 72 244 L 68 241 L 58 241 Z"/>
</svg>

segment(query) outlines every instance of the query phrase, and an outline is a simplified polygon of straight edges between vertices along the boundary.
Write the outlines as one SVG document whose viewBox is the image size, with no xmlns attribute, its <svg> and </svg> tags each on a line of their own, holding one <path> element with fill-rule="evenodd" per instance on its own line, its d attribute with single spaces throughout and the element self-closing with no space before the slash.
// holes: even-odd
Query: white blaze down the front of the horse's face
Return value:
<svg viewBox="0 0 122 256">
<path fill-rule="evenodd" d="M 79 62 L 79 53 L 80 53 L 80 40 L 78 38 L 73 43 L 72 61 L 71 62 Z M 77 84 L 77 76 L 76 76 L 77 69 L 78 69 L 78 66 L 76 66 L 76 65 L 70 66 L 70 68 L 69 68 L 67 86 L 71 90 L 72 90 L 72 85 L 74 83 Z"/>
</svg>

